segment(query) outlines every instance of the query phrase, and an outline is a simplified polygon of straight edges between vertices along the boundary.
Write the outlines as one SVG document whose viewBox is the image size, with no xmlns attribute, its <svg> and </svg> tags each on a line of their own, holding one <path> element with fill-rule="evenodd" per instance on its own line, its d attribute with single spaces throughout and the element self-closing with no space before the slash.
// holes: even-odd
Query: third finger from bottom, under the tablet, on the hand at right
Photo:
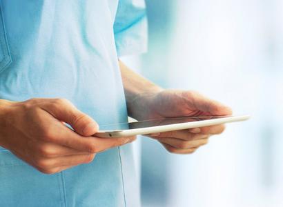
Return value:
<svg viewBox="0 0 283 207">
<path fill-rule="evenodd" d="M 159 139 L 160 137 L 170 137 L 175 139 L 183 139 L 183 140 L 194 140 L 194 139 L 204 139 L 207 137 L 207 135 L 203 135 L 201 133 L 195 134 L 191 133 L 188 130 L 175 130 L 175 131 L 169 131 L 169 132 L 160 132 L 148 135 L 149 137 L 152 137 L 153 139 Z"/>
</svg>

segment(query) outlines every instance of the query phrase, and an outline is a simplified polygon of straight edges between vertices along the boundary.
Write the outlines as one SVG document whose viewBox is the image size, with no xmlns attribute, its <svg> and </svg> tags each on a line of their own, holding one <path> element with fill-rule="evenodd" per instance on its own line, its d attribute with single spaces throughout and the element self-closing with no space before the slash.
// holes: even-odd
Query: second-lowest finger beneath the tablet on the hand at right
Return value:
<svg viewBox="0 0 283 207">
<path fill-rule="evenodd" d="M 184 141 L 181 139 L 173 139 L 173 138 L 162 138 L 159 139 L 163 144 L 168 144 L 177 149 L 189 149 L 189 148 L 198 148 L 199 146 L 203 146 L 208 143 L 208 139 L 197 139 L 193 141 Z"/>
</svg>

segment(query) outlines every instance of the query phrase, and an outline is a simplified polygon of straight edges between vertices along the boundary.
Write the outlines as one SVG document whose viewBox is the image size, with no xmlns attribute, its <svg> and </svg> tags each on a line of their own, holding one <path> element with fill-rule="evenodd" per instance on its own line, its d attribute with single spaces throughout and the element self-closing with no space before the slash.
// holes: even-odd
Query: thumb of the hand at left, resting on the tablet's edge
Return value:
<svg viewBox="0 0 283 207">
<path fill-rule="evenodd" d="M 91 136 L 99 129 L 98 124 L 91 117 L 79 111 L 66 99 L 52 99 L 50 103 L 43 106 L 43 110 L 59 121 L 70 124 L 79 135 Z"/>
</svg>

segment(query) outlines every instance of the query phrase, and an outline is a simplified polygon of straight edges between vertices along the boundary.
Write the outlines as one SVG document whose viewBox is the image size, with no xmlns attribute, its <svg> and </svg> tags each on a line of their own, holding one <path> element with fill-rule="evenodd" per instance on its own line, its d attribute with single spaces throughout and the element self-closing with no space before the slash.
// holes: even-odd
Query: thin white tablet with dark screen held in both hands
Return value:
<svg viewBox="0 0 283 207">
<path fill-rule="evenodd" d="M 235 121 L 245 121 L 249 115 L 219 116 L 219 117 L 177 117 L 166 119 L 151 119 L 121 124 L 108 124 L 99 126 L 97 137 L 128 137 L 133 135 L 148 135 L 158 132 L 184 130 L 203 126 L 226 124 Z"/>
</svg>

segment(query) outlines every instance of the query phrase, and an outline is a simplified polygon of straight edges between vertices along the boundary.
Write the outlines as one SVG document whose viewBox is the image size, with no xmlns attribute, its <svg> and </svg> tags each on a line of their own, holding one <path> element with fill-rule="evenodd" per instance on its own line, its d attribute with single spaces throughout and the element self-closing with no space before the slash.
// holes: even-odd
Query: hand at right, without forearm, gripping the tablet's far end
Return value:
<svg viewBox="0 0 283 207">
<path fill-rule="evenodd" d="M 137 119 L 232 115 L 232 110 L 227 106 L 195 91 L 161 90 L 153 94 L 139 95 L 135 104 L 140 108 L 135 112 Z M 199 146 L 207 144 L 211 135 L 222 133 L 224 128 L 224 125 L 206 126 L 148 136 L 157 139 L 169 152 L 190 154 Z"/>
</svg>

